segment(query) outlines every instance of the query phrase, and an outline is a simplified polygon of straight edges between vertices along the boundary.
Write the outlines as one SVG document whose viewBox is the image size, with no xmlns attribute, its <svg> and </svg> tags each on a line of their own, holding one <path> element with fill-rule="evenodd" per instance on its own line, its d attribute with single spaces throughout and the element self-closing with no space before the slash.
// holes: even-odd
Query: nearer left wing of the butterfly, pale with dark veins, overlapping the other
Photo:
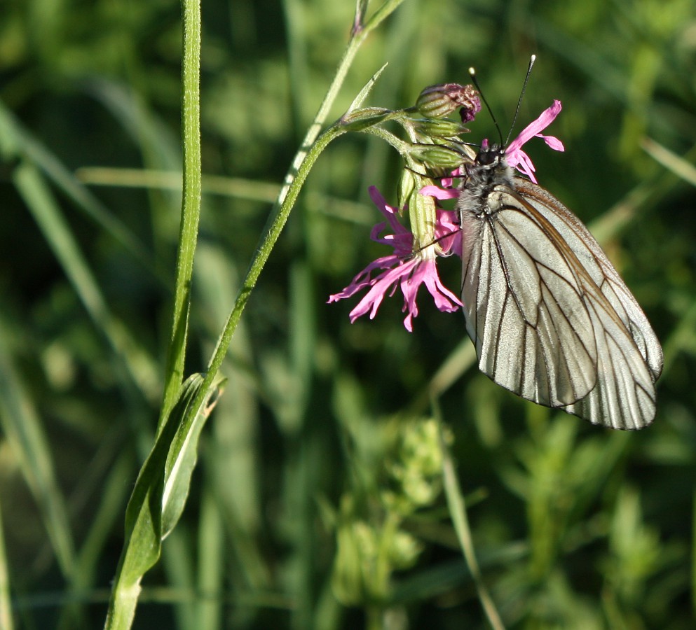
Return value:
<svg viewBox="0 0 696 630">
<path fill-rule="evenodd" d="M 578 282 L 514 197 L 493 194 L 495 212 L 461 216 L 462 302 L 479 369 L 528 400 L 571 404 L 596 384 L 594 335 Z"/>
</svg>

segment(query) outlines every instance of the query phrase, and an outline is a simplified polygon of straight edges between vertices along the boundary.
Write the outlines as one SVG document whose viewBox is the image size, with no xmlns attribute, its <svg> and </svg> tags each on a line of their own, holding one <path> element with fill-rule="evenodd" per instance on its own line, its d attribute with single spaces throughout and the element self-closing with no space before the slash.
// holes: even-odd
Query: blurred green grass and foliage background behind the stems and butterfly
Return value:
<svg viewBox="0 0 696 630">
<path fill-rule="evenodd" d="M 353 9 L 203 2 L 188 372 L 205 369 Z M 104 621 L 161 397 L 180 52 L 170 1 L 2 5 L 0 588 L 16 627 Z M 388 253 L 368 239 L 367 187 L 395 202 L 402 166 L 376 139 L 342 137 L 247 306 L 135 628 L 485 627 L 431 465 L 434 409 L 506 626 L 695 626 L 696 5 L 407 0 L 360 50 L 331 118 L 385 62 L 368 104 L 393 109 L 475 66 L 507 130 L 533 53 L 517 128 L 563 102 L 548 133 L 566 153 L 528 152 L 662 341 L 653 426 L 611 432 L 517 399 L 472 364 L 462 316 L 424 296 L 412 334 L 400 297 L 354 325 L 355 301 L 327 305 Z M 495 137 L 485 113 L 470 127 Z M 456 288 L 456 260 L 441 269 Z"/>
</svg>

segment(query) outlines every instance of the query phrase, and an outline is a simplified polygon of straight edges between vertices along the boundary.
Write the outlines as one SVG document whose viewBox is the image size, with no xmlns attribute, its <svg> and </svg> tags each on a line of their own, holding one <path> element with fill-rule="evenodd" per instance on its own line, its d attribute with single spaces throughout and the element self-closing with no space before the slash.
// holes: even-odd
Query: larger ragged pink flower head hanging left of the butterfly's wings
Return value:
<svg viewBox="0 0 696 630">
<path fill-rule="evenodd" d="M 367 265 L 341 293 L 329 295 L 329 304 L 355 295 L 358 291 L 367 288 L 368 291 L 362 300 L 350 311 L 350 323 L 354 323 L 358 317 L 368 312 L 369 318 L 374 319 L 384 296 L 394 295 L 398 283 L 404 294 L 402 310 L 407 312 L 404 326 L 409 332 L 413 331 L 413 318 L 418 316 L 416 295 L 421 284 L 425 284 L 425 288 L 432 295 L 435 306 L 439 310 L 451 313 L 459 309 L 462 303 L 442 284 L 435 267 L 437 255 L 449 255 L 452 252 L 461 251 L 460 241 L 458 241 L 460 230 L 456 223 L 456 212 L 438 210 L 437 224 L 435 225 L 437 243 L 414 251 L 414 236 L 399 222 L 397 218 L 399 209 L 388 206 L 384 197 L 374 186 L 369 188 L 369 194 L 378 210 L 387 220 L 372 228 L 370 238 L 376 243 L 390 245 L 394 251 L 392 254 L 378 258 Z M 387 223 L 393 233 L 380 236 L 387 227 Z M 382 269 L 382 271 L 372 277 L 372 272 L 376 269 Z"/>
</svg>

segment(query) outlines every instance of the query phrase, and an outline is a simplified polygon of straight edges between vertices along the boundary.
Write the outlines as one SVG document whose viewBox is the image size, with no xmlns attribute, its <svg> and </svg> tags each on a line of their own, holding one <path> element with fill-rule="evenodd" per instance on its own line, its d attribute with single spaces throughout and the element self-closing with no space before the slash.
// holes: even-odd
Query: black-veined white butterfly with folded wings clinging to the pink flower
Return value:
<svg viewBox="0 0 696 630">
<path fill-rule="evenodd" d="M 484 142 L 459 184 L 461 300 L 479 369 L 526 400 L 593 424 L 648 426 L 660 342 L 585 225 L 514 174 L 511 164 L 521 164 L 534 179 L 519 151 L 525 132 L 507 149 Z"/>
</svg>

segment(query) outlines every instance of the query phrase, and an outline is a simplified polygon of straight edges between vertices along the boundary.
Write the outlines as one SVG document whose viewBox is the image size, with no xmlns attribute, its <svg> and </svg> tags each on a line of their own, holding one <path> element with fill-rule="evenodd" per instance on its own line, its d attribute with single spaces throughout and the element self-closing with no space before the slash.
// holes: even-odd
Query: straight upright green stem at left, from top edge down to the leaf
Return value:
<svg viewBox="0 0 696 630">
<path fill-rule="evenodd" d="M 186 332 L 189 328 L 191 276 L 200 219 L 200 0 L 182 0 L 184 50 L 182 55 L 182 137 L 184 191 L 179 226 L 172 332 L 165 370 L 159 425 L 174 406 L 184 379 Z"/>
</svg>

